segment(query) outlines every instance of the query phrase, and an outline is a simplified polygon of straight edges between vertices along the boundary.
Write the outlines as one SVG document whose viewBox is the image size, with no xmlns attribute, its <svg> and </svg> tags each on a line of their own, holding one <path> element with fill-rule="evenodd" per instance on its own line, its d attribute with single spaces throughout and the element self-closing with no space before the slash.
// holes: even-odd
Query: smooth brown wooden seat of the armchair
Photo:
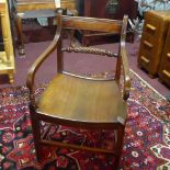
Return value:
<svg viewBox="0 0 170 170">
<path fill-rule="evenodd" d="M 91 80 L 59 73 L 37 101 L 37 112 L 81 123 L 124 124 L 126 104 L 114 80 Z"/>
</svg>

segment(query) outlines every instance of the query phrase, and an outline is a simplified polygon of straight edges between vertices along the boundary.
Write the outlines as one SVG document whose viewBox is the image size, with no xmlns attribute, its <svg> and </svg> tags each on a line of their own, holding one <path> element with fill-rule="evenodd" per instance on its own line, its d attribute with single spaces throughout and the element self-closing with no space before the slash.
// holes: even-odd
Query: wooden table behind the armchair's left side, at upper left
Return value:
<svg viewBox="0 0 170 170">
<path fill-rule="evenodd" d="M 61 0 L 60 3 L 63 9 L 70 10 L 73 15 L 77 15 L 75 0 Z M 56 3 L 55 0 L 13 0 L 13 7 L 19 54 L 24 55 L 22 19 L 48 18 L 48 23 L 52 23 L 50 19 L 55 16 Z"/>
</svg>

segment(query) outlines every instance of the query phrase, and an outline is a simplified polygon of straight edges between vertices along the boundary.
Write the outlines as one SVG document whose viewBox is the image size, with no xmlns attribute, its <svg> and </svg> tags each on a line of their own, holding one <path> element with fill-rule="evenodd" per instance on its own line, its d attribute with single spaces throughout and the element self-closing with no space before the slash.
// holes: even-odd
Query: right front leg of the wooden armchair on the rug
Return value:
<svg viewBox="0 0 170 170">
<path fill-rule="evenodd" d="M 122 156 L 122 149 L 123 149 L 123 139 L 124 139 L 124 126 L 121 125 L 117 128 L 117 154 L 115 156 L 115 162 L 114 162 L 114 170 L 118 170 L 118 166 L 120 166 L 120 160 L 121 160 L 121 156 Z"/>
</svg>

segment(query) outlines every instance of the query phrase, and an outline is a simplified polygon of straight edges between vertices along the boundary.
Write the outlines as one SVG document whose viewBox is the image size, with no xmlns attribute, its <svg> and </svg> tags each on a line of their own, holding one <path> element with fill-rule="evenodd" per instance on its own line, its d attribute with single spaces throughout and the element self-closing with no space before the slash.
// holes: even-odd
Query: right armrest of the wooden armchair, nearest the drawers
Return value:
<svg viewBox="0 0 170 170">
<path fill-rule="evenodd" d="M 131 90 L 131 76 L 129 76 L 127 54 L 125 49 L 125 42 L 122 42 L 121 44 L 121 56 L 122 56 L 122 65 L 123 65 L 123 73 L 124 73 L 123 99 L 127 100 L 129 97 L 129 90 Z"/>
</svg>

